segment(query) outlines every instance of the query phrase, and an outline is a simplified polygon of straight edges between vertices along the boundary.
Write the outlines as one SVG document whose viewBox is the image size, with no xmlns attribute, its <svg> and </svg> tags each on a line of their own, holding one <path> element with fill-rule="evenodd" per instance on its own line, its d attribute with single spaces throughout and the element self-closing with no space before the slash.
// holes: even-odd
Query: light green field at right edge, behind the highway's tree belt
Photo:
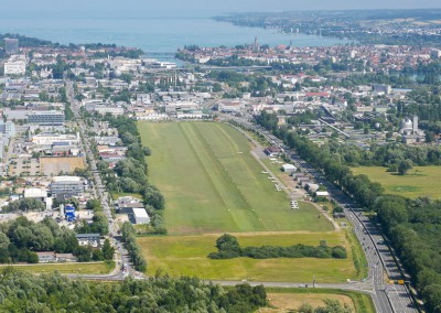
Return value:
<svg viewBox="0 0 441 313">
<path fill-rule="evenodd" d="M 389 173 L 381 166 L 353 168 L 354 174 L 365 174 L 373 182 L 378 182 L 388 194 L 402 195 L 410 198 L 431 196 L 441 198 L 441 166 L 415 166 L 407 175 Z"/>
</svg>

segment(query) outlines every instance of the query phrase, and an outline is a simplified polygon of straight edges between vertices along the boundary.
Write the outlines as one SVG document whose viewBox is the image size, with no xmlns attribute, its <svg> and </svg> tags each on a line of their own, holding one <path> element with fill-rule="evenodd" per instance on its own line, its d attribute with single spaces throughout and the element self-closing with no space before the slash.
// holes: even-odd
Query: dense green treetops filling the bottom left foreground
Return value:
<svg viewBox="0 0 441 313">
<path fill-rule="evenodd" d="M 0 270 L 4 312 L 255 312 L 266 306 L 262 285 L 228 290 L 196 278 L 152 277 L 106 283 L 71 280 L 60 273 L 33 276 Z"/>
</svg>

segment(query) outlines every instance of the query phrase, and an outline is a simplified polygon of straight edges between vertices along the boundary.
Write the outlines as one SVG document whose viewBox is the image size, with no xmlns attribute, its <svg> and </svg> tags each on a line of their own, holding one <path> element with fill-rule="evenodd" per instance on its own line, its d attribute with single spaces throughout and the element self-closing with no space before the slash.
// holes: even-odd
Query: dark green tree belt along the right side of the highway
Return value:
<svg viewBox="0 0 441 313">
<path fill-rule="evenodd" d="M 366 175 L 354 175 L 345 158 L 330 149 L 319 147 L 308 138 L 278 127 L 277 116 L 262 112 L 257 122 L 284 143 L 327 180 L 347 193 L 366 211 L 375 212 L 378 222 L 396 249 L 405 268 L 411 274 L 429 312 L 441 310 L 441 202 L 422 197 L 409 199 L 384 194 L 379 183 Z M 392 147 L 397 153 L 407 147 Z M 388 148 L 384 148 L 388 151 Z M 402 150 L 401 150 L 402 149 Z M 413 150 L 409 150 L 415 152 Z M 418 151 L 418 150 L 417 150 Z M 406 155 L 406 154 L 405 154 Z M 424 155 L 424 154 L 422 154 Z M 423 159 L 422 159 L 423 160 Z"/>
</svg>

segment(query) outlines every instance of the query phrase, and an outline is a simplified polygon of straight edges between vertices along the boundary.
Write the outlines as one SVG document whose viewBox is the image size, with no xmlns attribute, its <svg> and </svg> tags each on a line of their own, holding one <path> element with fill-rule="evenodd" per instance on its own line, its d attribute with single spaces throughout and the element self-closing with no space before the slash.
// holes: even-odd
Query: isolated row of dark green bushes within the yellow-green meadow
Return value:
<svg viewBox="0 0 441 313">
<path fill-rule="evenodd" d="M 335 258 L 346 259 L 347 251 L 343 246 L 329 247 L 325 240 L 320 246 L 294 245 L 290 247 L 261 246 L 241 248 L 237 238 L 224 234 L 216 240 L 217 252 L 208 255 L 211 259 L 233 259 L 248 257 L 252 259 L 272 259 L 272 258 Z"/>
</svg>

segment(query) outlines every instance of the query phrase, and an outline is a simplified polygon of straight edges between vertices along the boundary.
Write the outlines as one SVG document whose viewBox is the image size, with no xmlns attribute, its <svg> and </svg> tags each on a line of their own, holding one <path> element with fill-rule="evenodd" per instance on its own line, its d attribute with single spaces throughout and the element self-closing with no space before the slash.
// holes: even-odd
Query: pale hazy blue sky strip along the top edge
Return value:
<svg viewBox="0 0 441 313">
<path fill-rule="evenodd" d="M 441 8 L 440 0 L 20 0 L 4 1 L 2 11 L 139 12 L 140 14 L 200 15 L 227 12 L 262 12 L 290 10 L 413 9 Z"/>
</svg>

